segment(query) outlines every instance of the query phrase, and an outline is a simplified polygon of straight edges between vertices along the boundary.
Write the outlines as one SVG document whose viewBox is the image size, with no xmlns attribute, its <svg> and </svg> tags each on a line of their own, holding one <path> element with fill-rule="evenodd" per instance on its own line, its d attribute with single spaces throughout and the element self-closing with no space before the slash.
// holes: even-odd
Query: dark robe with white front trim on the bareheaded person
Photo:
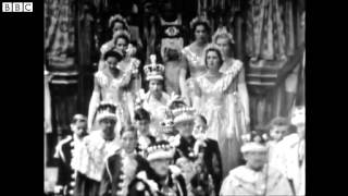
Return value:
<svg viewBox="0 0 348 196">
<path fill-rule="evenodd" d="M 148 162 L 134 152 L 127 155 L 119 150 L 110 156 L 105 162 L 101 184 L 100 196 L 120 196 L 127 195 L 128 185 L 139 171 L 148 171 Z"/>
</svg>

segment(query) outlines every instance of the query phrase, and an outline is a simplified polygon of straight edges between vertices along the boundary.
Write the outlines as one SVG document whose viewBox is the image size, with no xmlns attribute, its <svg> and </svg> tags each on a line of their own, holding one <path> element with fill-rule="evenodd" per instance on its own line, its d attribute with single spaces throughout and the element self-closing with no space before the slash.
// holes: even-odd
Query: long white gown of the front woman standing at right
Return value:
<svg viewBox="0 0 348 196">
<path fill-rule="evenodd" d="M 215 83 L 210 82 L 206 75 L 196 78 L 202 94 L 198 105 L 194 107 L 208 121 L 208 137 L 219 140 L 223 176 L 226 176 L 231 169 L 237 167 L 240 159 L 240 144 L 234 123 L 234 103 L 232 102 L 234 98 L 231 97 L 231 86 L 238 82 L 237 76 L 241 69 L 241 63 L 235 63 Z"/>
</svg>

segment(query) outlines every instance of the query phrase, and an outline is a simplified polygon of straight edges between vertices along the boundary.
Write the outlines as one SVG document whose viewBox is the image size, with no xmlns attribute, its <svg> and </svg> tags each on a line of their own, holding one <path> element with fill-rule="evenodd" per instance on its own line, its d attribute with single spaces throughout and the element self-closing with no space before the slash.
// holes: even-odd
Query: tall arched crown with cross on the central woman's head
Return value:
<svg viewBox="0 0 348 196">
<path fill-rule="evenodd" d="M 156 54 L 150 56 L 150 64 L 144 66 L 144 72 L 146 74 L 146 81 L 151 79 L 163 79 L 164 66 L 163 64 L 156 63 Z"/>
</svg>

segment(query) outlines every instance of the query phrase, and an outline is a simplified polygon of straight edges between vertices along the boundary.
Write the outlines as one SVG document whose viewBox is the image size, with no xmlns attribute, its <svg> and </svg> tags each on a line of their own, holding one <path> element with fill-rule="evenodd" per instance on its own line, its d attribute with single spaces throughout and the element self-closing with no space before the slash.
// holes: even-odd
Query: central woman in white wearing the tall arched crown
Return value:
<svg viewBox="0 0 348 196">
<path fill-rule="evenodd" d="M 150 133 L 157 137 L 170 96 L 163 91 L 164 66 L 156 62 L 154 54 L 150 60 L 151 63 L 144 66 L 149 90 L 144 96 L 142 108 L 151 114 Z"/>
</svg>

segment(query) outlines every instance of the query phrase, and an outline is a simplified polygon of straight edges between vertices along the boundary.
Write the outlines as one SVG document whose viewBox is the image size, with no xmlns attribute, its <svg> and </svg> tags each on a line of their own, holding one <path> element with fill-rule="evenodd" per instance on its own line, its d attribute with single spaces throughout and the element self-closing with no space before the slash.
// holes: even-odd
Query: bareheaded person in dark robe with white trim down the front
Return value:
<svg viewBox="0 0 348 196">
<path fill-rule="evenodd" d="M 121 131 L 122 148 L 109 157 L 100 185 L 100 196 L 126 196 L 128 185 L 139 171 L 147 171 L 148 162 L 137 154 L 137 130 L 127 126 Z"/>
</svg>

